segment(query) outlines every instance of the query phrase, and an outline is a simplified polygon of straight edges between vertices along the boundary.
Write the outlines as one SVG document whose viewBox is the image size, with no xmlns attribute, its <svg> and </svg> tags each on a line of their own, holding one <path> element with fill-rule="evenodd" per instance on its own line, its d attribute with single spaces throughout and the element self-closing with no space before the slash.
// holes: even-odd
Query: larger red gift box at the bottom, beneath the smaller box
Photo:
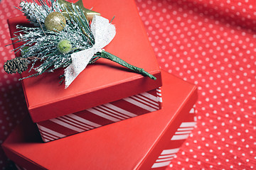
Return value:
<svg viewBox="0 0 256 170">
<path fill-rule="evenodd" d="M 47 143 L 27 118 L 2 147 L 24 169 L 165 169 L 196 124 L 197 93 L 196 86 L 162 74 L 159 111 Z"/>
</svg>

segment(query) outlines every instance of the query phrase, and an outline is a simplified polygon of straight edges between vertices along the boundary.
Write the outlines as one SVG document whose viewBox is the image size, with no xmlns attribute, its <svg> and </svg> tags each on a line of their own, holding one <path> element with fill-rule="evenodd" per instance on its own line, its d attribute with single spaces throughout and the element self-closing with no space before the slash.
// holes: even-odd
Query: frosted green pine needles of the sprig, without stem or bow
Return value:
<svg viewBox="0 0 256 170">
<path fill-rule="evenodd" d="M 48 0 L 48 3 L 50 3 L 49 1 L 53 0 Z M 53 9 L 46 4 L 42 5 L 46 13 Z M 54 9 L 58 10 L 58 8 Z M 44 11 L 41 13 L 44 13 Z M 89 23 L 82 14 L 82 11 L 76 9 L 73 11 L 73 14 L 73 16 L 70 16 L 70 19 L 66 19 L 65 28 L 59 32 L 47 30 L 44 23 L 38 23 L 38 27 L 16 26 L 20 31 L 11 40 L 23 42 L 23 45 L 16 48 L 17 51 L 22 52 L 23 47 L 29 47 L 28 51 L 23 52 L 22 57 L 30 61 L 30 70 L 33 69 L 36 71 L 35 74 L 31 74 L 28 77 L 37 76 L 44 72 L 54 72 L 55 69 L 68 67 L 72 62 L 70 57 L 72 52 L 85 50 L 95 44 Z M 32 14 L 28 13 L 28 15 Z M 43 18 L 44 16 L 40 17 Z M 23 34 L 20 34 L 22 32 Z M 70 41 L 70 44 L 72 44 L 70 52 L 66 54 L 59 52 L 58 42 L 60 40 Z M 92 60 L 95 60 L 95 57 Z M 38 61 L 41 64 L 36 64 Z M 23 79 L 28 77 L 23 77 Z"/>
</svg>

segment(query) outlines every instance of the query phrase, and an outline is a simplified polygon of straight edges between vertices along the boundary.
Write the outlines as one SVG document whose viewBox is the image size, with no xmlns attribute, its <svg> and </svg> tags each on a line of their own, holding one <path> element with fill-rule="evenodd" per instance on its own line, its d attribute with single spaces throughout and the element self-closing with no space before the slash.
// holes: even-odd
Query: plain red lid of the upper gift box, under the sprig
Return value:
<svg viewBox="0 0 256 170">
<path fill-rule="evenodd" d="M 161 86 L 159 65 L 134 1 L 83 0 L 83 4 L 85 8 L 93 7 L 94 11 L 109 20 L 115 16 L 112 23 L 116 26 L 117 34 L 105 50 L 129 64 L 145 69 L 157 79 L 143 77 L 105 59 L 87 66 L 68 89 L 58 83 L 58 76 L 63 74 L 63 70 L 24 79 L 23 91 L 33 122 L 83 111 Z M 28 21 L 24 16 L 10 18 L 11 36 L 17 24 L 28 24 Z M 14 48 L 17 45 L 14 44 Z M 28 73 L 23 74 L 23 77 L 26 76 Z"/>
</svg>

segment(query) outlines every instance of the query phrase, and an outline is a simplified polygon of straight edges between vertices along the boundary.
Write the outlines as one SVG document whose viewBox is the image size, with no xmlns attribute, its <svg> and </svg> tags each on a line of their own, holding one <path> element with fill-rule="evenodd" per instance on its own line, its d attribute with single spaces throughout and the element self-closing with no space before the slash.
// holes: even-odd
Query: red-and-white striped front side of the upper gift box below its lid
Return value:
<svg viewBox="0 0 256 170">
<path fill-rule="evenodd" d="M 119 101 L 37 123 L 44 142 L 57 140 L 102 125 L 133 118 L 161 108 L 161 90 L 154 89 Z"/>
</svg>

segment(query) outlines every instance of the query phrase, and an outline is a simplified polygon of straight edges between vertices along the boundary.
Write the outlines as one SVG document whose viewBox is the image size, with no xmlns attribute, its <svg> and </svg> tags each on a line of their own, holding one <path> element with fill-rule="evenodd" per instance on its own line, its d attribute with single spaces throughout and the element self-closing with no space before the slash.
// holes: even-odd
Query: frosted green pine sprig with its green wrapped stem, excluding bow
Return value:
<svg viewBox="0 0 256 170">
<path fill-rule="evenodd" d="M 14 52 L 22 52 L 22 60 L 19 63 L 28 63 L 29 61 L 32 63 L 31 69 L 37 72 L 28 77 L 36 77 L 44 72 L 54 72 L 55 69 L 68 67 L 72 63 L 71 55 L 73 52 L 89 49 L 95 44 L 95 38 L 85 13 L 87 9 L 82 5 L 82 1 L 78 2 L 76 4 L 69 4 L 65 0 L 60 0 L 60 4 L 58 4 L 57 0 L 39 0 L 41 4 L 39 6 L 36 2 L 30 4 L 26 0 L 21 1 L 20 10 L 23 11 L 35 26 L 38 26 L 17 26 L 19 30 L 14 34 L 16 37 L 11 39 L 16 42 L 23 42 L 23 45 L 14 49 Z M 52 31 L 46 29 L 43 21 L 52 12 L 63 12 L 63 15 L 65 13 L 66 24 L 63 24 L 63 30 Z M 23 50 L 23 47 L 26 47 L 26 50 Z M 105 52 L 105 50 L 97 52 L 89 64 L 96 62 L 100 58 L 117 62 L 134 72 L 150 77 L 151 79 L 156 79 L 153 75 L 145 72 L 144 69 L 128 64 L 119 57 Z M 38 61 L 41 64 L 36 67 L 36 62 Z M 10 66 L 12 62 L 8 62 Z M 15 60 L 15 63 L 18 63 L 18 60 L 17 62 Z M 25 71 L 25 68 L 18 69 L 18 72 Z"/>
</svg>

